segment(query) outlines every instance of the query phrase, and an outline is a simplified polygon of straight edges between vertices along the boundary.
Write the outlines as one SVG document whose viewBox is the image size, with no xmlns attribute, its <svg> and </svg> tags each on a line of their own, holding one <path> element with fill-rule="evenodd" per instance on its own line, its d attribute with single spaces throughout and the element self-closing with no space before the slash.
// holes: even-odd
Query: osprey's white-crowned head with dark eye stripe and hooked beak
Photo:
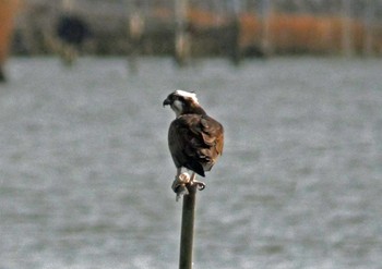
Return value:
<svg viewBox="0 0 382 269">
<path fill-rule="evenodd" d="M 170 106 L 177 117 L 187 113 L 205 114 L 198 102 L 196 94 L 192 91 L 177 89 L 167 96 L 163 106 Z"/>
</svg>

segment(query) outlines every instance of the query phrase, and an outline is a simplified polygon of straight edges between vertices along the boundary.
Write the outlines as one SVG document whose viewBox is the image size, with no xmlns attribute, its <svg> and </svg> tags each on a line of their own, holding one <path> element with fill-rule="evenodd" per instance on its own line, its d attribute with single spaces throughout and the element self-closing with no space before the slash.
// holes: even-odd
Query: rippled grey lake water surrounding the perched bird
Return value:
<svg viewBox="0 0 382 269">
<path fill-rule="evenodd" d="M 174 89 L 226 130 L 194 268 L 381 268 L 382 61 L 15 58 L 0 85 L 0 268 L 178 268 Z"/>
</svg>

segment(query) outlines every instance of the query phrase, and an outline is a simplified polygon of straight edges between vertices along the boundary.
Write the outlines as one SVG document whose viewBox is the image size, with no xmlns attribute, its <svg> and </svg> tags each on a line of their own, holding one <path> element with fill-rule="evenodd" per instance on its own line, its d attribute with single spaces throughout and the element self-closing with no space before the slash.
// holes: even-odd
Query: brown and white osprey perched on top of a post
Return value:
<svg viewBox="0 0 382 269">
<path fill-rule="evenodd" d="M 168 130 L 168 147 L 177 174 L 172 189 L 177 200 L 188 194 L 186 184 L 196 184 L 203 189 L 205 184 L 195 180 L 195 174 L 205 176 L 223 152 L 224 129 L 220 123 L 207 115 L 199 105 L 196 95 L 177 89 L 163 102 L 170 106 L 176 114 Z M 191 176 L 182 169 L 192 171 Z"/>
</svg>

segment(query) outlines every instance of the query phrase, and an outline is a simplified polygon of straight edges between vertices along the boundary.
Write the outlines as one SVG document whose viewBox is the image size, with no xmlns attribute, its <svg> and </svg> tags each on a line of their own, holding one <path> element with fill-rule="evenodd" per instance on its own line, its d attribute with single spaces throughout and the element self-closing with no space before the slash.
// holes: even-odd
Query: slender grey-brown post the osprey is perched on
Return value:
<svg viewBox="0 0 382 269">
<path fill-rule="evenodd" d="M 196 185 L 188 185 L 189 194 L 183 195 L 180 232 L 179 269 L 192 269 L 193 228 L 195 218 Z"/>
</svg>

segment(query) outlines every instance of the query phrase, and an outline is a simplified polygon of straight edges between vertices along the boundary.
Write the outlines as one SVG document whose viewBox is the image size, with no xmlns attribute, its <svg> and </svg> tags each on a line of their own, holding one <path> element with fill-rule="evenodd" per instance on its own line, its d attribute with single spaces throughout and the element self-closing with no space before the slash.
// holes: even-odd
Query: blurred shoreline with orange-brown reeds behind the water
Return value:
<svg viewBox="0 0 382 269">
<path fill-rule="evenodd" d="M 12 53 L 55 53 L 57 28 L 65 15 L 82 21 L 89 34 L 77 46 L 80 53 L 174 54 L 176 51 L 178 19 L 172 1 L 70 2 L 68 8 L 52 1 L 25 0 L 16 20 Z M 333 1 L 317 11 L 296 4 L 291 9 L 294 5 L 286 5 L 288 1 L 187 2 L 182 20 L 192 57 L 382 53 L 379 3 L 371 7 L 367 1 L 358 1 L 357 7 L 342 7 L 341 1 Z M 227 4 L 230 2 L 231 5 Z M 235 9 L 235 2 L 241 5 Z M 361 2 L 365 4 L 360 5 Z M 356 8 L 357 14 L 353 10 Z M 134 37 L 134 23 L 140 27 L 139 38 Z"/>
</svg>

